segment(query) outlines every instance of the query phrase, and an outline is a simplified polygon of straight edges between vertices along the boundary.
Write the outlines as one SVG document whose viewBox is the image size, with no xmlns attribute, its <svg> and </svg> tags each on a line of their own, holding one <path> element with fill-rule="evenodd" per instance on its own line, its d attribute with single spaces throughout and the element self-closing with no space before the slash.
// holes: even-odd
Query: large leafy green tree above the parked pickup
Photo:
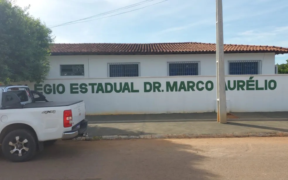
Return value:
<svg viewBox="0 0 288 180">
<path fill-rule="evenodd" d="M 49 73 L 52 30 L 29 15 L 29 7 L 0 0 L 0 83 L 40 83 Z"/>
</svg>

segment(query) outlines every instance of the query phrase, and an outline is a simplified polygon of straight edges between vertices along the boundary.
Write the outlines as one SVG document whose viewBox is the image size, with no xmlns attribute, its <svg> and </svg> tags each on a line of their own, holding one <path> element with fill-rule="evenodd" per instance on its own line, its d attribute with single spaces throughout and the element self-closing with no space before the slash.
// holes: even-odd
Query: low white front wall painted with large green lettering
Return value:
<svg viewBox="0 0 288 180">
<path fill-rule="evenodd" d="M 252 78 L 253 77 L 253 78 Z M 251 79 L 251 81 L 247 81 Z M 273 112 L 273 111 L 288 111 L 286 102 L 288 101 L 288 75 L 230 75 L 226 76 L 227 84 L 227 110 L 228 112 Z M 228 82 L 234 82 L 236 85 L 241 85 L 243 82 L 245 85 L 242 90 L 239 86 L 238 89 L 231 90 Z M 239 81 L 240 80 L 240 81 Z M 243 80 L 243 82 L 241 82 Z M 265 81 L 267 80 L 267 81 Z M 273 81 L 276 82 L 276 86 Z M 167 82 L 177 82 L 178 87 L 181 81 L 187 84 L 188 81 L 197 82 L 209 82 L 213 83 L 213 89 L 197 89 L 195 91 L 174 91 L 167 92 Z M 127 82 L 130 86 L 133 83 L 134 90 L 139 92 L 121 92 L 116 93 L 102 93 L 97 91 L 97 87 L 100 88 L 100 84 L 104 86 L 104 83 L 116 83 L 119 86 L 120 83 L 124 85 Z M 161 84 L 160 92 L 144 92 L 144 82 L 159 82 Z M 190 82 L 190 85 L 193 84 Z M 210 83 L 211 83 L 210 82 Z M 270 86 L 275 87 L 274 89 Z M 51 94 L 45 94 L 43 87 L 45 84 L 57 86 L 59 83 L 65 86 L 65 92 L 59 94 L 53 92 Z M 77 94 L 71 94 L 71 84 L 77 83 L 73 86 L 76 88 L 74 91 Z M 85 83 L 87 92 L 79 91 L 80 84 Z M 95 90 L 92 92 L 92 87 L 89 83 L 97 83 Z M 192 84 L 191 84 L 192 83 Z M 19 84 L 19 83 L 16 83 Z M 25 83 L 22 83 L 25 84 Z M 34 89 L 33 83 L 27 83 L 31 89 Z M 82 84 L 82 85 L 85 85 Z M 247 86 L 248 84 L 248 86 Z M 266 85 L 265 85 L 266 84 Z M 205 85 L 204 85 L 205 86 Z M 200 88 L 204 87 L 200 84 Z M 256 89 L 256 86 L 258 89 Z M 78 90 L 77 90 L 78 87 Z M 83 86 L 84 87 L 84 86 Z M 41 89 L 42 88 L 42 89 Z M 210 85 L 208 86 L 210 88 Z M 250 89 L 249 89 L 250 88 Z M 50 88 L 51 90 L 52 88 Z M 184 88 L 185 89 L 185 88 Z M 186 85 L 186 89 L 188 89 Z M 85 79 L 49 79 L 42 85 L 35 89 L 44 92 L 44 95 L 49 101 L 71 101 L 71 100 L 84 100 L 86 104 L 87 115 L 99 115 L 99 114 L 148 114 L 148 113 L 202 113 L 202 112 L 214 112 L 216 110 L 216 77 L 215 76 L 181 76 L 181 77 L 130 77 L 130 78 L 85 78 Z M 59 88 L 62 91 L 62 88 Z M 98 89 L 101 90 L 101 89 Z M 109 90 L 109 89 L 108 89 Z M 179 90 L 179 89 L 178 89 Z M 73 92 L 74 92 L 73 91 Z M 132 90 L 131 90 L 132 91 Z M 47 92 L 47 91 L 46 91 Z M 95 93 L 96 92 L 96 93 Z"/>
</svg>

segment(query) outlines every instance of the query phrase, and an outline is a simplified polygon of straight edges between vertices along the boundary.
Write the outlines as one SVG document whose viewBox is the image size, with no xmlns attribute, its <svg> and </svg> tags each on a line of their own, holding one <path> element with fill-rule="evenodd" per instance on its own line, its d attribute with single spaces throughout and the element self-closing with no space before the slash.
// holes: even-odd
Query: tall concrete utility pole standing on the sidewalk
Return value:
<svg viewBox="0 0 288 180">
<path fill-rule="evenodd" d="M 216 0 L 217 122 L 227 123 L 222 0 Z"/>
</svg>

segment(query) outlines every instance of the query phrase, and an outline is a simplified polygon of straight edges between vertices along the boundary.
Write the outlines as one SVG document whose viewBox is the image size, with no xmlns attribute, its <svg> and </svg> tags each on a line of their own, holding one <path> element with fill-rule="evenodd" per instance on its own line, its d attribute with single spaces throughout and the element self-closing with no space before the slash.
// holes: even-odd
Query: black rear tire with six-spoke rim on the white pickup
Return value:
<svg viewBox="0 0 288 180">
<path fill-rule="evenodd" d="M 4 157 L 12 162 L 25 162 L 34 158 L 37 151 L 35 135 L 27 129 L 9 132 L 2 142 Z"/>
</svg>

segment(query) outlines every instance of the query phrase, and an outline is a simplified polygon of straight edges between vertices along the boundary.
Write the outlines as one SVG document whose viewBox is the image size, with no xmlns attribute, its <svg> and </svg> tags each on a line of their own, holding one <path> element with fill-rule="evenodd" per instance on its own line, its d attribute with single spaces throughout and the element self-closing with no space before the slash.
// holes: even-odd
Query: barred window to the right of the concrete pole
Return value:
<svg viewBox="0 0 288 180">
<path fill-rule="evenodd" d="M 229 75 L 259 75 L 261 60 L 228 61 Z"/>
</svg>

